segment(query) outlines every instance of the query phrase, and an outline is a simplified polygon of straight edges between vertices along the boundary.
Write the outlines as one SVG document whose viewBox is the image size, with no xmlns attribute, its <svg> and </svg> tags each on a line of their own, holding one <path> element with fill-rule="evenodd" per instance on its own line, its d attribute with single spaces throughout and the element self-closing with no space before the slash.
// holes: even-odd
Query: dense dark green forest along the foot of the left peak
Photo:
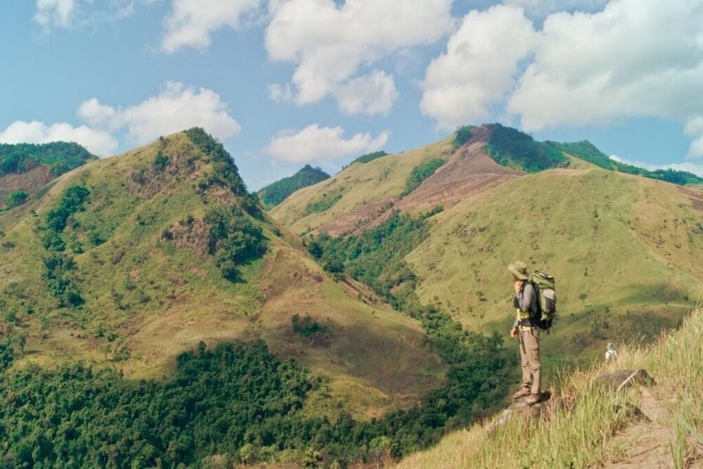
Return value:
<svg viewBox="0 0 703 469">
<path fill-rule="evenodd" d="M 125 380 L 82 364 L 18 369 L 0 381 L 0 465 L 13 468 L 202 467 L 295 461 L 346 467 L 402 456 L 483 416 L 501 397 L 499 341 L 465 340 L 463 364 L 423 406 L 359 422 L 303 411 L 325 385 L 258 340 L 181 354 L 172 378 Z M 229 467 L 223 465 L 222 467 Z"/>
</svg>

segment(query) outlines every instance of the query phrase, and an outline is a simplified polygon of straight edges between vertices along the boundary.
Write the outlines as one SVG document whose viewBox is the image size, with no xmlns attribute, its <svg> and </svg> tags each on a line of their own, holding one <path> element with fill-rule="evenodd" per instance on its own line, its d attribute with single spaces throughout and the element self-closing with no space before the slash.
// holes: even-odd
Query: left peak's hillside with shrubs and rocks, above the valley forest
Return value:
<svg viewBox="0 0 703 469">
<path fill-rule="evenodd" d="M 332 413 L 378 416 L 441 386 L 418 323 L 325 274 L 223 152 L 202 131 L 175 134 L 0 215 L 3 329 L 27 335 L 18 366 L 82 359 L 159 377 L 201 340 L 264 338 L 330 377 Z M 329 327 L 302 337 L 295 314 Z"/>
</svg>

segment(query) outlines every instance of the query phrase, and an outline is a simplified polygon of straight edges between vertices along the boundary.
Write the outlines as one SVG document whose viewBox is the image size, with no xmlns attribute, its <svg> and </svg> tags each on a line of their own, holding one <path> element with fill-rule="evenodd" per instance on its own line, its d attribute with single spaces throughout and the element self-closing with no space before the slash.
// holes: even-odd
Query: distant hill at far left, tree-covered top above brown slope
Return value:
<svg viewBox="0 0 703 469">
<path fill-rule="evenodd" d="M 25 203 L 51 179 L 98 157 L 77 143 L 0 143 L 0 210 Z"/>
</svg>

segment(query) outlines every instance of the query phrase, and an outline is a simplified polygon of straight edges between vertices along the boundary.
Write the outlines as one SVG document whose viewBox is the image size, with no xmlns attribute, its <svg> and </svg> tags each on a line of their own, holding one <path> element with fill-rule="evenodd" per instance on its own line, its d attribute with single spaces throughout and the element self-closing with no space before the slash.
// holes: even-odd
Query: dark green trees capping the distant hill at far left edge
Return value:
<svg viewBox="0 0 703 469">
<path fill-rule="evenodd" d="M 0 176 L 23 173 L 38 165 L 48 165 L 57 177 L 98 157 L 74 142 L 0 143 Z"/>
</svg>

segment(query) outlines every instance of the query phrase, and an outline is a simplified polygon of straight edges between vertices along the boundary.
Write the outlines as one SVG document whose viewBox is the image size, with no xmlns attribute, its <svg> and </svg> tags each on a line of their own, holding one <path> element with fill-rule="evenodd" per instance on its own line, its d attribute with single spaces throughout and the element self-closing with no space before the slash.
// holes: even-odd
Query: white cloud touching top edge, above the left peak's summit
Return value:
<svg viewBox="0 0 703 469">
<path fill-rule="evenodd" d="M 202 49 L 222 27 L 237 28 L 243 17 L 261 8 L 261 0 L 173 0 L 165 18 L 161 49 L 174 53 L 183 47 Z"/>
</svg>

